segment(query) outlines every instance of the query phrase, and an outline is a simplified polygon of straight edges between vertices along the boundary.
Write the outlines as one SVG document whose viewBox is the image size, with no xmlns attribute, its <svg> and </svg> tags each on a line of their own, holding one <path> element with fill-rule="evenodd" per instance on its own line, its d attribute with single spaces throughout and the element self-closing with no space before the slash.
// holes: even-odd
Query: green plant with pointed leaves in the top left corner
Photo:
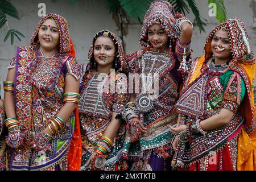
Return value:
<svg viewBox="0 0 256 182">
<path fill-rule="evenodd" d="M 13 6 L 13 4 L 10 2 L 10 0 L 0 0 L 0 28 L 2 28 L 5 24 L 8 27 L 8 32 L 5 36 L 5 39 L 3 40 L 6 42 L 6 40 L 10 37 L 11 38 L 11 44 L 14 43 L 14 37 L 16 37 L 19 41 L 21 39 L 19 36 L 25 37 L 22 33 L 20 33 L 18 30 L 11 29 L 9 27 L 8 21 L 7 21 L 7 15 L 19 19 L 19 13 L 18 10 Z"/>
</svg>

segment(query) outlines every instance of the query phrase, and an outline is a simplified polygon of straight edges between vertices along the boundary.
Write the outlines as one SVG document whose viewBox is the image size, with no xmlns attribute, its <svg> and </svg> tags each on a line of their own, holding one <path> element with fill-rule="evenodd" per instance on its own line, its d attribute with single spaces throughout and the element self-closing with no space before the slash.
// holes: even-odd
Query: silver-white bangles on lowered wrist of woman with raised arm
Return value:
<svg viewBox="0 0 256 182">
<path fill-rule="evenodd" d="M 138 118 L 139 112 L 136 108 L 135 102 L 128 102 L 125 109 L 122 111 L 122 118 L 128 122 L 130 119 Z"/>
</svg>

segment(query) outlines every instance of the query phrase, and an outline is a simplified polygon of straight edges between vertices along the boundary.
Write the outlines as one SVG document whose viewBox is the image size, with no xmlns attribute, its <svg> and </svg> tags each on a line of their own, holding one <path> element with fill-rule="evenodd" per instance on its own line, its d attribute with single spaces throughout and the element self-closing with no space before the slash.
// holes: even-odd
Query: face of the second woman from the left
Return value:
<svg viewBox="0 0 256 182">
<path fill-rule="evenodd" d="M 96 39 L 93 48 L 94 60 L 98 65 L 113 66 L 115 57 L 115 46 L 109 37 L 100 36 Z"/>
</svg>

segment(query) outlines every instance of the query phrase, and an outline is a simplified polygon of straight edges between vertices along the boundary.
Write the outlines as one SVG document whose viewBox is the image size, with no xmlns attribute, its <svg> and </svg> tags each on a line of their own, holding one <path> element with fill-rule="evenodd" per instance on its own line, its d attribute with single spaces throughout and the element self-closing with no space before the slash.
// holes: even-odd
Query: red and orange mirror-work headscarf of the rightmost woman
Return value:
<svg viewBox="0 0 256 182">
<path fill-rule="evenodd" d="M 218 26 L 210 32 L 206 40 L 204 47 L 205 60 L 208 60 L 213 55 L 210 43 L 218 30 L 228 32 L 231 46 L 230 52 L 232 53 L 229 68 L 240 73 L 245 81 L 246 96 L 245 101 L 241 105 L 241 112 L 246 119 L 245 130 L 247 134 L 251 135 L 255 133 L 255 109 L 253 99 L 255 57 L 249 45 L 249 36 L 247 35 L 245 24 L 237 17 L 218 24 Z"/>
</svg>

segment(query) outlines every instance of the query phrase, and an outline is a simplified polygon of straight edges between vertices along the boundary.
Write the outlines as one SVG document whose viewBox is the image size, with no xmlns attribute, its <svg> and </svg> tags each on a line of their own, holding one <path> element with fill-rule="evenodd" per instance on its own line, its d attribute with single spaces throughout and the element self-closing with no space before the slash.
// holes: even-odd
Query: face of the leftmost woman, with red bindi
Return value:
<svg viewBox="0 0 256 182">
<path fill-rule="evenodd" d="M 45 51 L 57 49 L 60 42 L 59 29 L 55 20 L 48 18 L 42 23 L 38 32 L 40 47 Z"/>
</svg>

